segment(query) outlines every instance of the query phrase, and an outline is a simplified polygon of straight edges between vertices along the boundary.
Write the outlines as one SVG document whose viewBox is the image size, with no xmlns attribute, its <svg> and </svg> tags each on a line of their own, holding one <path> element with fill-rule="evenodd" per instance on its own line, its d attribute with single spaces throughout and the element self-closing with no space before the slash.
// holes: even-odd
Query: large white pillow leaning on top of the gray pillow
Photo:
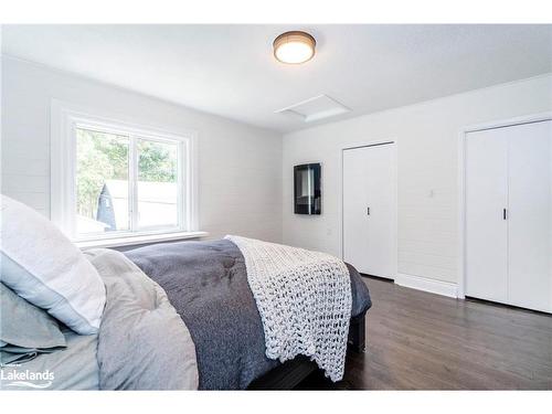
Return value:
<svg viewBox="0 0 552 414">
<path fill-rule="evenodd" d="M 47 219 L 2 194 L 0 279 L 81 335 L 96 333 L 105 285 L 81 251 Z"/>
</svg>

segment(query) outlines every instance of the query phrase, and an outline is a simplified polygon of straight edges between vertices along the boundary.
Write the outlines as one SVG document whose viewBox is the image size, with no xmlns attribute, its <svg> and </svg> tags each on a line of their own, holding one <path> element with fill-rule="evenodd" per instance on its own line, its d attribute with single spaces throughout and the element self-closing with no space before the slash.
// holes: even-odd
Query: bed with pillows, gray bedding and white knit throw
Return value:
<svg viewBox="0 0 552 414">
<path fill-rule="evenodd" d="M 325 358 L 342 346 L 347 349 L 348 343 L 349 351 L 364 350 L 370 295 L 358 272 L 335 257 L 243 237 L 156 244 L 124 253 L 102 248 L 83 255 L 61 233 L 50 229 L 43 217 L 9 200 L 3 202 L 3 217 L 10 221 L 2 223 L 2 295 L 6 291 L 19 305 L 6 311 L 8 301 L 2 296 L 1 389 L 293 389 L 317 367 L 332 380 L 339 380 L 344 352 L 338 352 L 337 360 L 333 358 L 339 365 L 337 371 L 336 367 L 332 371 L 332 367 L 325 365 L 328 361 Z M 20 219 L 21 211 L 29 214 L 26 220 Z M 15 225 L 11 229 L 7 223 Z M 39 226 L 42 238 L 35 237 Z M 51 254 L 52 248 L 57 253 Z M 276 272 L 278 261 L 270 262 L 261 255 L 257 262 L 252 262 L 253 251 L 272 251 L 280 254 L 278 261 L 283 262 L 290 256 L 301 257 L 291 261 L 295 270 L 302 269 L 294 275 L 310 282 L 296 279 L 291 284 L 289 275 L 280 272 L 286 267 L 280 267 L 278 277 L 272 278 L 270 272 Z M 33 272 L 21 267 L 22 263 L 35 266 Z M 341 285 L 337 284 L 338 274 L 333 269 L 341 272 Z M 268 272 L 270 277 L 265 278 L 275 287 L 272 298 L 259 296 L 258 279 L 253 277 L 263 270 Z M 89 273 L 86 286 L 91 287 L 73 289 L 76 295 L 73 305 L 81 300 L 83 307 L 100 306 L 99 314 L 96 310 L 100 318 L 96 329 L 79 325 L 83 320 L 72 325 L 74 321 L 66 311 L 74 309 L 67 308 L 67 304 L 63 302 L 65 308 L 56 314 L 51 305 L 41 305 L 43 298 L 33 296 L 35 288 L 21 284 L 24 277 L 32 286 L 46 283 L 44 286 L 50 287 L 43 295 L 47 296 L 51 288 L 63 290 L 67 284 L 85 286 L 82 284 L 85 273 Z M 97 293 L 87 290 L 92 286 L 97 287 Z M 320 291 L 297 291 L 297 287 L 304 286 L 306 289 L 315 286 Z M 105 295 L 105 300 L 96 298 L 99 294 Z M 339 304 L 332 301 L 339 295 L 348 300 L 341 309 L 341 319 L 337 312 Z M 55 296 L 54 302 L 60 302 L 62 296 Z M 301 306 L 310 314 L 301 314 L 302 308 L 283 307 L 289 299 L 296 304 L 307 301 Z M 267 301 L 279 308 L 267 314 Z M 322 302 L 330 306 L 322 309 Z M 55 346 L 41 348 L 31 343 L 18 348 L 13 346 L 17 340 L 7 339 L 4 333 L 10 327 L 15 336 L 30 329 L 26 337 L 23 335 L 24 340 L 36 336 L 36 329 L 30 328 L 30 321 L 36 319 L 30 317 L 32 312 L 57 332 Z M 15 315 L 26 317 L 26 322 Z M 294 319 L 295 325 L 286 325 L 287 319 Z M 280 331 L 280 326 L 299 328 L 295 332 Z M 314 326 L 329 327 L 333 342 L 320 348 L 320 343 L 326 346 L 327 338 L 314 335 L 310 331 Z M 279 357 L 275 357 L 275 348 L 282 350 Z"/>
</svg>

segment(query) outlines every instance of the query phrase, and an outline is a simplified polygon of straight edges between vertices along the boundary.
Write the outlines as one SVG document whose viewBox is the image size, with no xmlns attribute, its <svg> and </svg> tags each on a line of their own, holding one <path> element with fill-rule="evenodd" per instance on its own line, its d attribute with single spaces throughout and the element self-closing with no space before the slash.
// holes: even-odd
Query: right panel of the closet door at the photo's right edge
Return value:
<svg viewBox="0 0 552 414">
<path fill-rule="evenodd" d="M 509 141 L 509 304 L 551 311 L 552 123 L 503 128 Z"/>
</svg>

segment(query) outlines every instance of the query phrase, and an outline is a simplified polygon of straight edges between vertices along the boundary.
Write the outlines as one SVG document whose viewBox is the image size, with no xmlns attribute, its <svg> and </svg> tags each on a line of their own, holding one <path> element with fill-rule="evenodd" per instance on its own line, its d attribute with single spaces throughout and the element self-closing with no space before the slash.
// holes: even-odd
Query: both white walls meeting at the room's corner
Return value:
<svg viewBox="0 0 552 414">
<path fill-rule="evenodd" d="M 237 233 L 283 240 L 338 256 L 340 150 L 393 139 L 399 272 L 452 283 L 458 262 L 459 130 L 552 110 L 549 75 L 288 134 L 282 145 L 275 132 L 8 56 L 2 63 L 2 192 L 46 216 L 51 98 L 102 106 L 126 121 L 198 131 L 200 229 L 213 237 Z M 322 215 L 295 215 L 293 166 L 316 161 L 322 162 Z"/>
</svg>

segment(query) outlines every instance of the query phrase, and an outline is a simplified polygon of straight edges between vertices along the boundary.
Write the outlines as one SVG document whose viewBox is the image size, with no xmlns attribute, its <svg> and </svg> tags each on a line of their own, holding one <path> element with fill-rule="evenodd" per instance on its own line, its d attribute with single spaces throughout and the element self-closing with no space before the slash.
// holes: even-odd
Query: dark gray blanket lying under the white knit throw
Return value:
<svg viewBox="0 0 552 414">
<path fill-rule="evenodd" d="M 200 389 L 246 389 L 279 364 L 265 355 L 261 317 L 244 258 L 230 241 L 157 244 L 125 252 L 167 293 L 190 330 Z M 351 316 L 371 306 L 358 272 L 351 275 Z"/>
</svg>

